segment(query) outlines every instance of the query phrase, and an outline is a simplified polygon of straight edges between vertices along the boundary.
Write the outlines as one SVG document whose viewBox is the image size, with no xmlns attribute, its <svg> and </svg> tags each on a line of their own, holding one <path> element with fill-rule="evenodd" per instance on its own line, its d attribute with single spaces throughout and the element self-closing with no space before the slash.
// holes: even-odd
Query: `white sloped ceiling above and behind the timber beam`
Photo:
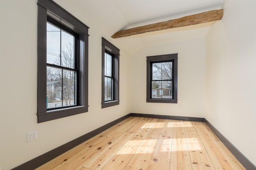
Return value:
<svg viewBox="0 0 256 170">
<path fill-rule="evenodd" d="M 106 36 L 146 24 L 153 24 L 187 15 L 218 10 L 224 0 L 54 0 L 61 6 L 74 9 L 74 16 L 83 16 Z M 80 17 L 78 17 L 80 18 Z M 81 20 L 81 19 L 80 19 Z M 87 23 L 86 23 L 87 24 Z M 204 38 L 213 23 L 172 28 L 111 40 L 134 53 L 153 43 Z M 90 27 L 90 24 L 87 24 Z M 89 29 L 90 34 L 90 29 Z"/>
</svg>

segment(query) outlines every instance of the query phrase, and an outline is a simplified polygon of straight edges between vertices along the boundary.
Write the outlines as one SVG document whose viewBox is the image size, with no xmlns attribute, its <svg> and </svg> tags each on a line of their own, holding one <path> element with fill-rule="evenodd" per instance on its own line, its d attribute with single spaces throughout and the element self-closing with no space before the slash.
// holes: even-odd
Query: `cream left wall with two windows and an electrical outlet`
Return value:
<svg viewBox="0 0 256 170">
<path fill-rule="evenodd" d="M 120 105 L 101 109 L 101 37 L 90 17 L 89 112 L 37 123 L 37 0 L 1 1 L 1 170 L 14 168 L 130 113 L 130 55 L 120 51 Z M 58 1 L 62 6 L 62 1 Z M 72 13 L 72 6 L 63 6 Z M 26 133 L 38 139 L 26 142 Z"/>
</svg>

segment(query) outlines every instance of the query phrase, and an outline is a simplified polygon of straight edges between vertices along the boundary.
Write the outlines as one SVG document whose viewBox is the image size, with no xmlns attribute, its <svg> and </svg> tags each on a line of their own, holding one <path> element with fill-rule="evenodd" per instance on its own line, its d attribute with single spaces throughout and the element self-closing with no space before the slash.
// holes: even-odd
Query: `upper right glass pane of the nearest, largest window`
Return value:
<svg viewBox="0 0 256 170">
<path fill-rule="evenodd" d="M 61 66 L 74 69 L 74 36 L 61 30 Z"/>
</svg>

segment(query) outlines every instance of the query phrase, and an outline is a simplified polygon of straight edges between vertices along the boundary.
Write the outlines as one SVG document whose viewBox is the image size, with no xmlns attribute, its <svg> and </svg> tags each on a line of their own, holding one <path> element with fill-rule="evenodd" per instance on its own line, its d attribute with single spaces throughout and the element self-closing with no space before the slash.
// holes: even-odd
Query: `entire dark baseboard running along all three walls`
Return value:
<svg viewBox="0 0 256 170">
<path fill-rule="evenodd" d="M 42 166 L 46 162 L 60 156 L 64 152 L 74 148 L 75 146 L 81 144 L 82 142 L 96 136 L 97 134 L 103 132 L 104 130 L 116 125 L 117 123 L 127 119 L 128 117 L 148 117 L 148 118 L 157 118 L 157 119 L 173 119 L 173 120 L 181 120 L 181 121 L 197 121 L 197 122 L 205 122 L 206 125 L 218 136 L 218 138 L 223 142 L 223 144 L 230 150 L 230 152 L 237 158 L 237 160 L 246 168 L 247 170 L 256 170 L 256 166 L 252 164 L 235 146 L 233 146 L 215 127 L 213 127 L 206 119 L 198 118 L 198 117 L 182 117 L 182 116 L 168 116 L 168 115 L 150 115 L 150 114 L 138 114 L 138 113 L 130 113 L 125 115 L 115 121 L 112 121 L 100 128 L 97 128 L 83 136 L 80 136 L 62 146 L 59 146 L 45 154 L 42 154 L 20 166 L 13 168 L 12 170 L 34 170 L 39 166 Z"/>
</svg>

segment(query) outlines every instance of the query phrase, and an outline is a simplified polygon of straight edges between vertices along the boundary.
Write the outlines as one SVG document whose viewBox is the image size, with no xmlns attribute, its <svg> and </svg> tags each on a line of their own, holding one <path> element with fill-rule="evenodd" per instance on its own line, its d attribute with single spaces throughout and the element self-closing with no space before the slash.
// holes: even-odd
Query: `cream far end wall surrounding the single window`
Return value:
<svg viewBox="0 0 256 170">
<path fill-rule="evenodd" d="M 143 47 L 132 56 L 132 113 L 204 117 L 204 38 Z M 146 103 L 146 56 L 178 53 L 178 103 Z"/>
</svg>

